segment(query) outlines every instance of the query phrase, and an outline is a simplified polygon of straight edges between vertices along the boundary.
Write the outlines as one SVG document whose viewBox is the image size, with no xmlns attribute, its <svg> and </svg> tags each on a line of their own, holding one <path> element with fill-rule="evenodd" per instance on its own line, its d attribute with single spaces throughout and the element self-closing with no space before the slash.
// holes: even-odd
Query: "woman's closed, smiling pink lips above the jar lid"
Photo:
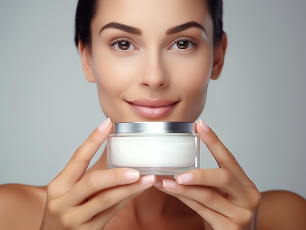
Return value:
<svg viewBox="0 0 306 230">
<path fill-rule="evenodd" d="M 161 118 L 169 114 L 177 103 L 177 101 L 164 99 L 140 99 L 127 102 L 138 115 L 151 119 Z"/>
</svg>

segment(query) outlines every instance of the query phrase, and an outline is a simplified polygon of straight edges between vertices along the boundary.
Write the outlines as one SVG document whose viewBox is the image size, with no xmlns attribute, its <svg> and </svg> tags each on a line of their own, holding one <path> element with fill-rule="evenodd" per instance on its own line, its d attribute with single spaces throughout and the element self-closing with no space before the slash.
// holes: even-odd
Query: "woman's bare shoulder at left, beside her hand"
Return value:
<svg viewBox="0 0 306 230">
<path fill-rule="evenodd" d="M 46 188 L 20 184 L 0 186 L 0 223 L 6 230 L 39 229 Z"/>
</svg>

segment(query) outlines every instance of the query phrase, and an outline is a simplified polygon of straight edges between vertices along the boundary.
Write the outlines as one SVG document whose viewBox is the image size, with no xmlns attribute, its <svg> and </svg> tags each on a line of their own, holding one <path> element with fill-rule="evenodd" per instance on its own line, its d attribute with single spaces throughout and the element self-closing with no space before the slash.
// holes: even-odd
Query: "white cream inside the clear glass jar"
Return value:
<svg viewBox="0 0 306 230">
<path fill-rule="evenodd" d="M 182 136 L 113 138 L 112 164 L 124 167 L 183 167 L 195 163 L 195 140 Z"/>
</svg>

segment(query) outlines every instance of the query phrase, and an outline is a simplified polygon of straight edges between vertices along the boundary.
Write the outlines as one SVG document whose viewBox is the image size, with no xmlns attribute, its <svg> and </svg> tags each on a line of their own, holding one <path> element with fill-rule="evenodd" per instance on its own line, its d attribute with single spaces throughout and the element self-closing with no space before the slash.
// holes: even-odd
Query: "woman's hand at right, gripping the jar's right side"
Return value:
<svg viewBox="0 0 306 230">
<path fill-rule="evenodd" d="M 197 133 L 219 168 L 194 169 L 157 187 L 194 209 L 203 219 L 205 230 L 256 230 L 260 192 L 246 176 L 232 153 L 203 122 Z"/>
</svg>

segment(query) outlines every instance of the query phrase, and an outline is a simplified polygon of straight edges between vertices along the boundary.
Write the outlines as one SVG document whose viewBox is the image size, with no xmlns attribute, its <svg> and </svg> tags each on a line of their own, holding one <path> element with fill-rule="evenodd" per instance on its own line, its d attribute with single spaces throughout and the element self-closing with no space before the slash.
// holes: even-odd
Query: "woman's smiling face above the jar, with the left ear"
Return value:
<svg viewBox="0 0 306 230">
<path fill-rule="evenodd" d="M 100 0 L 87 79 L 113 122 L 194 122 L 213 70 L 213 23 L 204 0 Z"/>
</svg>

